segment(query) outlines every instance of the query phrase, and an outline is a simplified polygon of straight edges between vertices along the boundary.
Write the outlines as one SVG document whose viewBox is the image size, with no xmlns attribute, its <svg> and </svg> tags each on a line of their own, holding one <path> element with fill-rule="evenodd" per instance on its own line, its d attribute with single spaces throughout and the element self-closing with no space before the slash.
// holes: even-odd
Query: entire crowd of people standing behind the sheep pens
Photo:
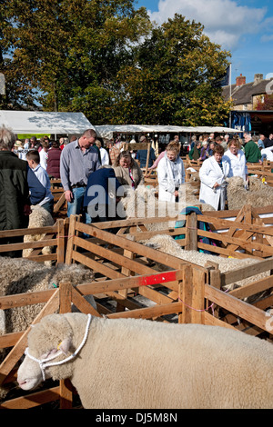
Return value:
<svg viewBox="0 0 273 427">
<path fill-rule="evenodd" d="M 136 141 L 132 141 L 136 143 Z M 139 143 L 147 143 L 142 135 Z M 50 141 L 45 135 L 24 142 L 3 126 L 0 128 L 0 230 L 25 228 L 31 205 L 39 204 L 53 214 L 51 179 L 58 179 L 64 189 L 67 216 L 82 214 L 85 223 L 113 221 L 123 217 L 116 206 L 126 189 L 136 190 L 145 177 L 157 171 L 158 199 L 178 202 L 178 189 L 185 182 L 178 135 L 161 153 L 150 146 L 130 150 L 120 140 L 102 144 L 93 129 L 69 139 Z M 132 145 L 133 146 L 133 145 Z M 147 164 L 147 155 L 149 163 Z M 193 135 L 189 158 L 201 167 L 201 203 L 224 209 L 227 177 L 241 176 L 248 182 L 248 163 L 273 161 L 273 134 L 216 136 Z M 148 167 L 148 174 L 147 174 Z M 146 171 L 144 171 L 146 169 Z"/>
</svg>

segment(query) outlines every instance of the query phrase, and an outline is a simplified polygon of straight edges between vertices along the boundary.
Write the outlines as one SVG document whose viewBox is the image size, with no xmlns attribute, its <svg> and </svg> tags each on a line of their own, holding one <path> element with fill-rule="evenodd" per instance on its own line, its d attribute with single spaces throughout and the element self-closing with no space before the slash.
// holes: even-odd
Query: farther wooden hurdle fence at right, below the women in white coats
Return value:
<svg viewBox="0 0 273 427">
<path fill-rule="evenodd" d="M 183 227 L 176 228 L 182 221 Z M 166 223 L 160 230 L 149 230 L 149 224 Z M 172 223 L 172 225 L 170 225 Z M 176 240 L 184 249 L 203 250 L 225 257 L 260 259 L 273 255 L 273 205 L 256 209 L 245 205 L 240 211 L 192 212 L 166 218 L 133 218 L 108 223 L 96 223 L 100 229 L 119 227 L 119 233 L 129 234 L 135 242 L 148 240 L 157 234 L 179 236 Z M 207 238 L 209 243 L 204 242 Z"/>
</svg>

